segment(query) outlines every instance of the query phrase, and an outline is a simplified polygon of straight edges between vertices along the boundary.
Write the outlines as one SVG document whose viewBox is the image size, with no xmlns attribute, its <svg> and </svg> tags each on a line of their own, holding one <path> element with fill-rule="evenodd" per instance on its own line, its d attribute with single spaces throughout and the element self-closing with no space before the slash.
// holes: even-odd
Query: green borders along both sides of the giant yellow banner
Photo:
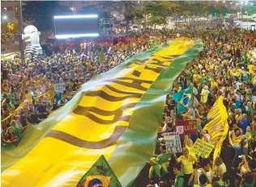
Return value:
<svg viewBox="0 0 256 187">
<path fill-rule="evenodd" d="M 146 60 L 153 53 L 169 47 L 169 44 L 172 42 L 173 40 L 169 40 L 165 44 L 133 56 L 109 72 L 96 75 L 90 81 L 81 85 L 79 92 L 65 106 L 54 111 L 38 125 L 27 127 L 18 147 L 2 146 L 2 171 L 15 164 L 23 156 L 26 156 L 62 118 L 65 118 L 67 114 L 75 110 L 83 95 L 88 90 L 95 88 L 95 85 L 100 85 L 105 80 L 113 78 L 114 74 L 119 73 L 135 60 Z M 117 147 L 108 160 L 109 165 L 122 186 L 132 185 L 147 161 L 154 155 L 156 135 L 159 129 L 159 122 L 162 118 L 162 111 L 164 110 L 166 94 L 169 94 L 173 81 L 185 69 L 186 64 L 193 60 L 202 49 L 202 40 L 195 40 L 193 48 L 188 49 L 181 56 L 175 58 L 172 64 L 160 73 L 160 76 L 154 81 L 151 88 L 143 94 L 143 97 L 134 108 L 129 127 L 127 127 L 126 132 L 118 139 Z M 121 164 L 122 167 L 120 167 Z"/>
</svg>

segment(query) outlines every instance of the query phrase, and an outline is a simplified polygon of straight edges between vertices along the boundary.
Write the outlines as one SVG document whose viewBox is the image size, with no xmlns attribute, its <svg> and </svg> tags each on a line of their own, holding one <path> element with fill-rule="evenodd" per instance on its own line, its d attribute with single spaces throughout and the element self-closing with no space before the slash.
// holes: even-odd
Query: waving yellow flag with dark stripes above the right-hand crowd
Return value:
<svg viewBox="0 0 256 187">
<path fill-rule="evenodd" d="M 211 118 L 211 121 L 207 123 L 203 130 L 207 130 L 209 135 L 211 135 L 211 143 L 215 147 L 213 155 L 213 160 L 215 161 L 215 158 L 220 154 L 222 143 L 228 135 L 228 112 L 223 104 L 222 96 L 211 107 L 207 118 Z"/>
</svg>

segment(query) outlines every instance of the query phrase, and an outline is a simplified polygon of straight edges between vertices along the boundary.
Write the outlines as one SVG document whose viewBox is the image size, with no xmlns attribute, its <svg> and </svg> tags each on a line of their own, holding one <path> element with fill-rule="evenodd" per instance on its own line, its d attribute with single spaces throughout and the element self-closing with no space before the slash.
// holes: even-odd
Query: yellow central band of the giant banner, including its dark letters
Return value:
<svg viewBox="0 0 256 187">
<path fill-rule="evenodd" d="M 143 94 L 175 57 L 192 47 L 192 39 L 175 39 L 95 85 L 27 156 L 2 172 L 2 186 L 77 185 L 101 155 L 109 160 Z"/>
</svg>

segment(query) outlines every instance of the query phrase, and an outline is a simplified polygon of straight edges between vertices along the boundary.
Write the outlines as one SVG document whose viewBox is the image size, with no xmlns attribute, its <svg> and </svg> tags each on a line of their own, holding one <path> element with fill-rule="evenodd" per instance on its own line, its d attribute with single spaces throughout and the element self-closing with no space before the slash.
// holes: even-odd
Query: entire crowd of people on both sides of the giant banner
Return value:
<svg viewBox="0 0 256 187">
<path fill-rule="evenodd" d="M 164 31 L 166 33 L 166 31 Z M 158 133 L 176 131 L 177 120 L 195 119 L 198 122 L 196 136 L 181 136 L 182 153 L 169 154 L 164 143 L 159 143 L 156 156 L 149 161 L 148 186 L 175 187 L 253 187 L 255 183 L 256 148 L 256 95 L 254 39 L 250 31 L 231 27 L 214 30 L 199 27 L 169 31 L 152 39 L 149 35 L 130 38 L 127 44 L 99 45 L 87 42 L 80 52 L 66 49 L 40 59 L 29 56 L 21 62 L 2 61 L 2 119 L 11 115 L 11 123 L 2 127 L 2 144 L 15 143 L 22 132 L 34 125 L 58 107 L 70 100 L 67 94 L 99 73 L 105 73 L 130 56 L 146 51 L 166 40 L 181 36 L 203 39 L 204 48 L 173 84 L 164 108 L 164 123 Z M 254 35 L 255 37 L 255 35 Z M 49 98 L 54 84 L 66 83 L 63 93 Z M 184 114 L 177 114 L 177 103 L 172 95 L 193 88 L 194 107 Z M 43 97 L 40 99 L 38 96 Z M 229 131 L 222 144 L 220 155 L 203 159 L 191 152 L 196 139 L 211 143 L 211 135 L 203 127 L 211 120 L 207 113 L 216 99 L 222 96 L 228 112 Z M 32 99 L 29 102 L 28 99 Z M 23 107 L 19 105 L 23 102 Z M 15 110 L 19 107 L 19 110 Z M 214 167 L 213 167 L 214 166 Z"/>
</svg>

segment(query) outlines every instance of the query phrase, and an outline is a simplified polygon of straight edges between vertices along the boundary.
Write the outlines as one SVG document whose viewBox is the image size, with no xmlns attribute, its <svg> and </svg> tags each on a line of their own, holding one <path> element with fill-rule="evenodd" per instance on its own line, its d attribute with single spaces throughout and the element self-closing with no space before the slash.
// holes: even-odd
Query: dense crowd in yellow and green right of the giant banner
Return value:
<svg viewBox="0 0 256 187">
<path fill-rule="evenodd" d="M 182 35 L 203 39 L 204 49 L 173 84 L 164 108 L 164 132 L 176 131 L 175 122 L 197 120 L 197 135 L 180 135 L 182 152 L 169 154 L 164 143 L 158 143 L 156 156 L 149 161 L 149 186 L 174 187 L 254 187 L 256 179 L 256 48 L 254 39 L 243 39 L 250 31 L 237 27 L 203 31 L 191 29 Z M 173 94 L 192 88 L 194 105 L 177 114 Z M 213 160 L 191 151 L 196 139 L 211 143 L 211 135 L 203 130 L 207 113 L 217 98 L 224 98 L 228 112 L 228 135 L 219 156 Z M 161 140 L 161 139 L 159 139 Z M 161 142 L 161 141 L 160 141 Z M 215 163 L 213 163 L 215 161 Z"/>
</svg>

